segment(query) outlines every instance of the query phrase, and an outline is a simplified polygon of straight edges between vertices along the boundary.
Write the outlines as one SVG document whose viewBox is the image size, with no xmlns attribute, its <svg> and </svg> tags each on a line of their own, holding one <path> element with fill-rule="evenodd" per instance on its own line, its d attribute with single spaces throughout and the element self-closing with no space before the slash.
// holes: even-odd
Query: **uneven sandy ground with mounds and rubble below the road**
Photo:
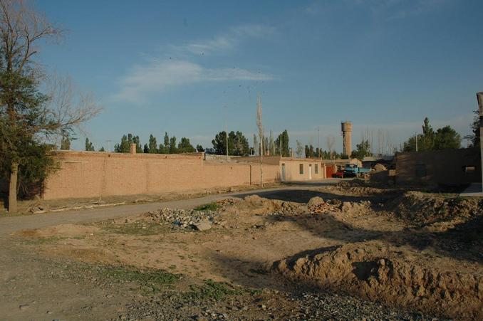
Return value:
<svg viewBox="0 0 483 321">
<path fill-rule="evenodd" d="M 360 184 L 263 196 L 4 237 L 0 311 L 9 320 L 483 317 L 483 201 Z"/>
</svg>

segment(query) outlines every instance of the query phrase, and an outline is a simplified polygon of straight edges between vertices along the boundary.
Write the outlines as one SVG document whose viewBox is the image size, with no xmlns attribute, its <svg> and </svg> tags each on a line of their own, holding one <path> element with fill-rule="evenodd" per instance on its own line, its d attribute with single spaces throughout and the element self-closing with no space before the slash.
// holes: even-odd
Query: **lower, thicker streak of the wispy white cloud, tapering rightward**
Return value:
<svg viewBox="0 0 483 321">
<path fill-rule="evenodd" d="M 120 79 L 120 90 L 114 101 L 145 102 L 149 95 L 162 93 L 177 86 L 227 80 L 272 80 L 273 76 L 241 68 L 204 68 L 185 60 L 152 59 L 137 65 Z"/>
</svg>

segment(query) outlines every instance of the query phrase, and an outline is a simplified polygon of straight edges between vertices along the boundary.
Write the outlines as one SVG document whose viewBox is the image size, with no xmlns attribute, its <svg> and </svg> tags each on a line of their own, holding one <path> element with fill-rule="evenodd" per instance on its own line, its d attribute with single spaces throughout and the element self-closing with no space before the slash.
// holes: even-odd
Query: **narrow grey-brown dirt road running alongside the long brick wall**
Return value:
<svg viewBox="0 0 483 321">
<path fill-rule="evenodd" d="M 191 209 L 195 206 L 207 204 L 227 196 L 243 197 L 247 195 L 259 195 L 269 199 L 287 199 L 298 197 L 297 195 L 312 195 L 313 189 L 338 183 L 336 179 L 324 179 L 322 181 L 298 182 L 291 186 L 283 186 L 276 189 L 258 189 L 252 191 L 235 192 L 229 194 L 217 194 L 197 199 L 184 199 L 178 201 L 154 202 L 144 204 L 129 204 L 114 206 L 103 209 L 88 209 L 81 211 L 65 211 L 61 213 L 36 214 L 28 216 L 3 216 L 0 217 L 0 236 L 14 233 L 22 229 L 43 228 L 66 223 L 90 223 L 105 219 L 118 219 L 120 217 L 153 211 L 160 207 L 178 209 Z M 294 192 L 296 192 L 294 194 Z"/>
</svg>

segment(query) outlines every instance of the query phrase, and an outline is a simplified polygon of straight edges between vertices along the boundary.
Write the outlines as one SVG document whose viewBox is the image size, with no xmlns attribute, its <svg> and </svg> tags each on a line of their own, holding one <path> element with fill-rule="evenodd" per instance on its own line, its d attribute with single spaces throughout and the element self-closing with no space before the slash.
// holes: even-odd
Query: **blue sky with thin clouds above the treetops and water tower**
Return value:
<svg viewBox="0 0 483 321">
<path fill-rule="evenodd" d="M 397 146 L 424 117 L 466 135 L 483 90 L 483 9 L 471 0 L 38 1 L 66 30 L 41 48 L 103 112 L 85 125 L 96 149 L 133 132 L 189 137 L 289 130 L 291 146 L 378 131 Z M 227 106 L 226 109 L 223 106 Z M 85 136 L 78 135 L 76 149 Z M 387 140 L 387 139 L 386 139 Z M 466 142 L 463 142 L 465 145 Z M 355 143 L 354 143 L 355 145 Z M 375 151 L 378 146 L 374 146 Z"/>
</svg>

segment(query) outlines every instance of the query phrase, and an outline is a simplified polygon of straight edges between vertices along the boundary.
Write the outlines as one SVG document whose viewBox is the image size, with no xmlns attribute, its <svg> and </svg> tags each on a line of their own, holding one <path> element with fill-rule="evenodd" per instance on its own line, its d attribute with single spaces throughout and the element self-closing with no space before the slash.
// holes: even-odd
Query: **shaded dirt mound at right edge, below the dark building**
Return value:
<svg viewBox="0 0 483 321">
<path fill-rule="evenodd" d="M 422 225 L 481 215 L 483 200 L 447 198 L 438 194 L 407 191 L 402 196 L 389 201 L 385 208 L 401 219 Z"/>
</svg>

